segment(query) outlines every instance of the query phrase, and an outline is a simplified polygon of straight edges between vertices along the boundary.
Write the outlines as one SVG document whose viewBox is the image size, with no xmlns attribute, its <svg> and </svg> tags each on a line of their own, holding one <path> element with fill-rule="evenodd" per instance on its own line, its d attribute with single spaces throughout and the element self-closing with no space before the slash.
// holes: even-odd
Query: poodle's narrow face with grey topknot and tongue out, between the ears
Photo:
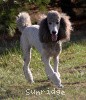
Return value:
<svg viewBox="0 0 86 100">
<path fill-rule="evenodd" d="M 48 28 L 51 34 L 52 41 L 57 41 L 58 38 L 58 32 L 60 28 L 60 20 L 61 17 L 58 12 L 51 13 L 49 12 L 47 15 L 47 23 L 48 23 Z"/>
</svg>

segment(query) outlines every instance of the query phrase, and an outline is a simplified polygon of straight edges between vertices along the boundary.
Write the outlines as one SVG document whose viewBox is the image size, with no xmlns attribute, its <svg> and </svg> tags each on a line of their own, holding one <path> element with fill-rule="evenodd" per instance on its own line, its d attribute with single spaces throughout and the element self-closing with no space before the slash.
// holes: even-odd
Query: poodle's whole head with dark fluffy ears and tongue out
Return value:
<svg viewBox="0 0 86 100">
<path fill-rule="evenodd" d="M 57 42 L 70 39 L 72 27 L 69 17 L 57 11 L 49 11 L 40 23 L 39 38 L 41 42 Z"/>
</svg>

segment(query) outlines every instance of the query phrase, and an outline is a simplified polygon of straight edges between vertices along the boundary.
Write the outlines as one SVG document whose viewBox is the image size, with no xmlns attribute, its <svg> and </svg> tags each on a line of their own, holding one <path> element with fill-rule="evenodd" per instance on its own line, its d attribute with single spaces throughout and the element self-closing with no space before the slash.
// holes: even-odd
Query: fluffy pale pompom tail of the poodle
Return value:
<svg viewBox="0 0 86 100">
<path fill-rule="evenodd" d="M 31 26 L 30 15 L 27 12 L 21 12 L 16 18 L 16 23 L 19 31 L 23 31 L 25 27 Z"/>
</svg>

